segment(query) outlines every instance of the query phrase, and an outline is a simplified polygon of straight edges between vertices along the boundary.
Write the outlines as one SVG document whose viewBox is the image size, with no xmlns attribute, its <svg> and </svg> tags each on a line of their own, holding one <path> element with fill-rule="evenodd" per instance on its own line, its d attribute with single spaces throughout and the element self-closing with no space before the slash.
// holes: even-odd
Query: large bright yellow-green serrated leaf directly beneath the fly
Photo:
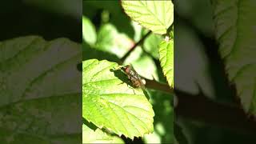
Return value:
<svg viewBox="0 0 256 144">
<path fill-rule="evenodd" d="M 82 116 L 99 128 L 128 138 L 151 133 L 154 111 L 141 89 L 126 83 L 114 62 L 82 62 Z"/>
</svg>

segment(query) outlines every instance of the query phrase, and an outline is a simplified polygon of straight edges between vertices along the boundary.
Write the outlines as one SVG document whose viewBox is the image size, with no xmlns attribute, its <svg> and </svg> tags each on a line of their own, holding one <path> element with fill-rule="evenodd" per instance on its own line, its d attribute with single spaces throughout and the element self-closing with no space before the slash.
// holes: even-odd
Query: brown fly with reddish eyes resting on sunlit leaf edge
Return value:
<svg viewBox="0 0 256 144">
<path fill-rule="evenodd" d="M 126 73 L 127 77 L 130 79 L 130 82 L 132 82 L 134 87 L 140 87 L 142 89 L 145 89 L 145 82 L 143 82 L 144 79 L 138 75 L 138 73 L 134 70 L 132 66 L 122 66 L 121 70 Z"/>
</svg>

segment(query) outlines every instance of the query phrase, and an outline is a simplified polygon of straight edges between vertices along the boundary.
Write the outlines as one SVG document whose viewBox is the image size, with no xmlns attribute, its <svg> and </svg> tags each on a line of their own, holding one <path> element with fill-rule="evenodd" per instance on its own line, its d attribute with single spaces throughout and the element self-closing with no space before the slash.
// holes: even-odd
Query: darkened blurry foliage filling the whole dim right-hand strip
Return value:
<svg viewBox="0 0 256 144">
<path fill-rule="evenodd" d="M 175 4 L 175 88 L 190 88 L 184 90 L 186 102 L 178 101 L 188 113 L 180 118 L 184 111 L 176 109 L 176 140 L 189 144 L 254 143 L 255 3 L 192 0 Z M 200 53 L 195 54 L 196 50 Z M 188 62 L 184 62 L 186 58 Z M 206 81 L 206 74 L 210 80 Z M 203 99 L 216 105 L 209 106 Z"/>
</svg>

